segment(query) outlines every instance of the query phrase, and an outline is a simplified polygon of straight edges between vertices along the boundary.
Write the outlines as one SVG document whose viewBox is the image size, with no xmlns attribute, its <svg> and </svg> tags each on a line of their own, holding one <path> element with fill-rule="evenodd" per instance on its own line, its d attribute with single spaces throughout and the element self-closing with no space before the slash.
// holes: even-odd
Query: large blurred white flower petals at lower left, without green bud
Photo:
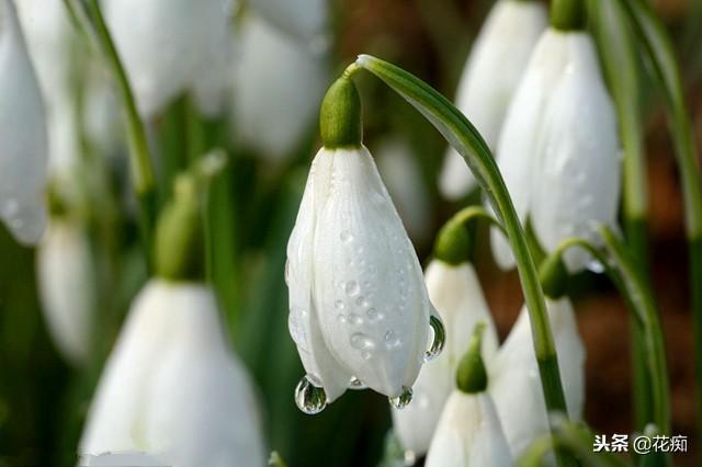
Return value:
<svg viewBox="0 0 702 467">
<path fill-rule="evenodd" d="M 80 441 L 81 457 L 104 453 L 180 467 L 265 464 L 253 387 L 208 286 L 151 280 L 136 298 Z"/>
</svg>

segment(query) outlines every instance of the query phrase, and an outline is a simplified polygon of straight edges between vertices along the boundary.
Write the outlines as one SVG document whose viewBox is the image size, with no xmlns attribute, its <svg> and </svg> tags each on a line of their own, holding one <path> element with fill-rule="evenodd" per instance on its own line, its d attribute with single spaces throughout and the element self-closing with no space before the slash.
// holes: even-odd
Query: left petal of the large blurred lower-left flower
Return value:
<svg viewBox="0 0 702 467">
<path fill-rule="evenodd" d="M 171 332 L 172 286 L 149 282 L 136 297 L 100 378 L 80 454 L 148 451 L 144 395 Z"/>
</svg>

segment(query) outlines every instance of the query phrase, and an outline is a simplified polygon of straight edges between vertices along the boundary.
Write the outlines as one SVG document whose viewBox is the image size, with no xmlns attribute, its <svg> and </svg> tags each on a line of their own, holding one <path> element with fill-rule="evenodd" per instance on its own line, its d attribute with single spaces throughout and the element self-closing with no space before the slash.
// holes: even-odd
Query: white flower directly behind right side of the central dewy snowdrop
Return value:
<svg viewBox="0 0 702 467">
<path fill-rule="evenodd" d="M 424 273 L 431 303 L 446 330 L 444 350 L 426 363 L 414 386 L 412 403 L 393 409 L 393 424 L 403 447 L 417 456 L 429 449 L 439 417 L 455 389 L 458 362 L 468 349 L 471 331 L 485 322 L 484 358 L 489 365 L 497 352 L 497 333 L 473 265 L 451 265 L 433 260 Z M 457 398 L 460 399 L 460 398 Z M 478 464 L 479 465 L 479 464 Z"/>
</svg>

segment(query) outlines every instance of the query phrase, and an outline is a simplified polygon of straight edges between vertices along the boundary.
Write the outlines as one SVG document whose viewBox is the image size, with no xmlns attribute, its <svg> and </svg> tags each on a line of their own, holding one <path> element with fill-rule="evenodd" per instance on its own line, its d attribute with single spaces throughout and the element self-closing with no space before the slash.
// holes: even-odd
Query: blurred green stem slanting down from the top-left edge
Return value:
<svg viewBox="0 0 702 467">
<path fill-rule="evenodd" d="M 154 221 L 156 218 L 156 182 L 146 130 L 139 117 L 126 71 L 100 10 L 99 0 L 90 0 L 90 11 L 100 44 L 115 76 L 124 102 L 129 139 L 129 164 L 132 167 L 134 190 L 140 205 L 139 227 L 150 264 Z"/>
</svg>

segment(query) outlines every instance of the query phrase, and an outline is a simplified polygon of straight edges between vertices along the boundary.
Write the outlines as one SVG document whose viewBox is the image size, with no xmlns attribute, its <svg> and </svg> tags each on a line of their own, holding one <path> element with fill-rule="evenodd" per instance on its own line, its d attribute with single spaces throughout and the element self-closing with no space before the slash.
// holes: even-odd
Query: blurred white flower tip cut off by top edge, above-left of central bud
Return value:
<svg viewBox="0 0 702 467">
<path fill-rule="evenodd" d="M 328 0 L 252 0 L 251 8 L 313 52 L 329 45 Z"/>
</svg>

